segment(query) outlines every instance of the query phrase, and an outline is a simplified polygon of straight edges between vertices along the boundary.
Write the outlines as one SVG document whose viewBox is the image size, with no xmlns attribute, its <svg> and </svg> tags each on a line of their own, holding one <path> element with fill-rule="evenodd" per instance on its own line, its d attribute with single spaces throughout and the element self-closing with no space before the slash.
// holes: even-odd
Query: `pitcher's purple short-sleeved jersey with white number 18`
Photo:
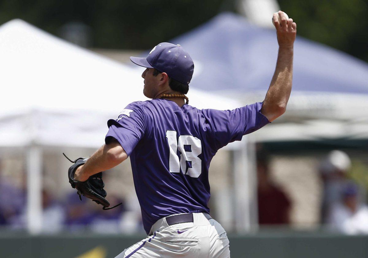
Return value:
<svg viewBox="0 0 368 258">
<path fill-rule="evenodd" d="M 209 213 L 210 161 L 221 147 L 269 123 L 261 107 L 199 110 L 153 99 L 132 102 L 107 122 L 105 142 L 115 138 L 130 156 L 147 234 L 162 217 Z"/>
</svg>

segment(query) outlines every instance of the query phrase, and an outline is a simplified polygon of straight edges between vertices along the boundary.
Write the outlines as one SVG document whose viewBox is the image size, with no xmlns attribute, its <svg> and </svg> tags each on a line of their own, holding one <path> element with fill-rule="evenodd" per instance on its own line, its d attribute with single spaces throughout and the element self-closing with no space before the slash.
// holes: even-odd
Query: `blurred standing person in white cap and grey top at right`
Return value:
<svg viewBox="0 0 368 258">
<path fill-rule="evenodd" d="M 320 165 L 323 181 L 323 198 L 321 205 L 321 220 L 326 222 L 329 210 L 337 203 L 341 203 L 341 192 L 347 184 L 347 171 L 350 169 L 349 156 L 340 150 L 331 151 Z"/>
</svg>

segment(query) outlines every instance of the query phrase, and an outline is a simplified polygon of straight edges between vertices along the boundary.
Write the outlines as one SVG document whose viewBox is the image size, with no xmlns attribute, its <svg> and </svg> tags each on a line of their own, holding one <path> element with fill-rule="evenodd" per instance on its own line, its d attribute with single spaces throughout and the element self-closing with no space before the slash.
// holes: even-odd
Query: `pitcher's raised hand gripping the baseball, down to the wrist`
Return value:
<svg viewBox="0 0 368 258">
<path fill-rule="evenodd" d="M 273 23 L 275 24 L 277 42 L 279 43 L 279 46 L 286 48 L 293 47 L 297 33 L 297 24 L 293 22 L 293 19 L 291 18 L 287 20 L 283 11 L 274 13 L 272 19 Z"/>
</svg>

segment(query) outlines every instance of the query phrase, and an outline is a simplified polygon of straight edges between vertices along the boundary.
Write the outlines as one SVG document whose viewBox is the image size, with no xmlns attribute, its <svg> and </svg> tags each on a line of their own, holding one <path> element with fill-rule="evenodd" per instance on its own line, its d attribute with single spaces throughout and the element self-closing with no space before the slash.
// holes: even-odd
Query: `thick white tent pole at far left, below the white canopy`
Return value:
<svg viewBox="0 0 368 258">
<path fill-rule="evenodd" d="M 31 145 L 27 150 L 27 229 L 30 234 L 41 231 L 42 217 L 42 149 Z"/>
</svg>

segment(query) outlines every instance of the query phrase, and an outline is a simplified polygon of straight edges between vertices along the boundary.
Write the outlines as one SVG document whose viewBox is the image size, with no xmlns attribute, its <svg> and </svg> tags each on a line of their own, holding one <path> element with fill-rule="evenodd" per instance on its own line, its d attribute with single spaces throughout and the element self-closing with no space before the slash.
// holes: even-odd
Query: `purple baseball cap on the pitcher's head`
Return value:
<svg viewBox="0 0 368 258">
<path fill-rule="evenodd" d="M 162 42 L 155 46 L 147 57 L 131 56 L 130 60 L 139 66 L 165 72 L 169 77 L 184 84 L 189 84 L 192 80 L 193 60 L 180 45 Z"/>
</svg>

